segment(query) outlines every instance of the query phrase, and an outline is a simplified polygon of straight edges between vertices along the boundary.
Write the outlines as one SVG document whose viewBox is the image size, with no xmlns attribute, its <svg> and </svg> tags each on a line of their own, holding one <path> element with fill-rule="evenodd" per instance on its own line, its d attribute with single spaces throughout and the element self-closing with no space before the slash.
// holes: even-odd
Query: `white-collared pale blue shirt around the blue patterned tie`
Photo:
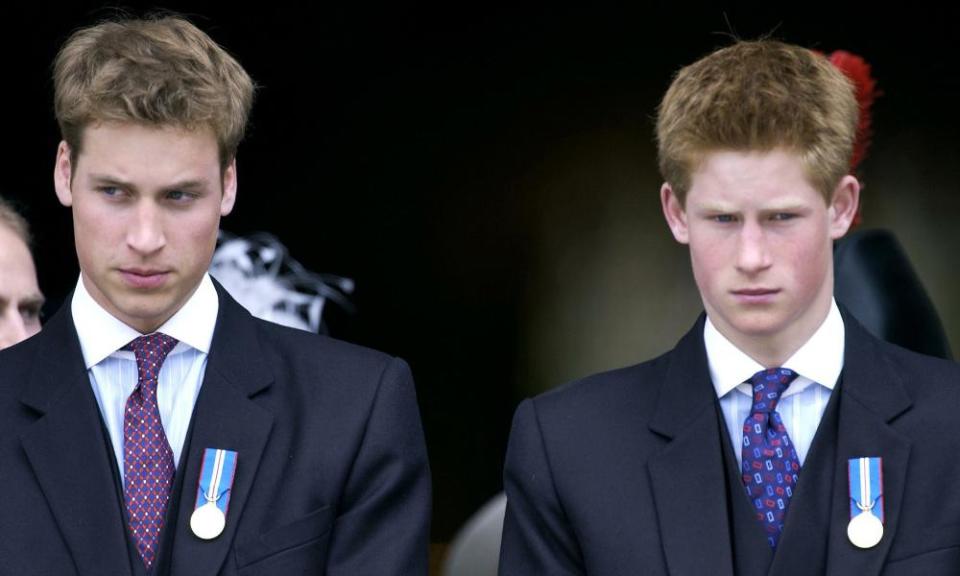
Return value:
<svg viewBox="0 0 960 576">
<path fill-rule="evenodd" d="M 737 463 L 743 465 L 740 446 L 743 443 L 743 422 L 753 405 L 753 388 L 746 383 L 765 367 L 733 345 L 707 318 L 703 341 L 710 364 L 710 377 L 720 399 L 720 409 L 727 423 Z M 802 465 L 820 425 L 830 394 L 843 370 L 844 327 L 836 301 L 830 312 L 807 342 L 797 350 L 783 368 L 798 374 L 777 404 L 777 412 Z"/>
</svg>

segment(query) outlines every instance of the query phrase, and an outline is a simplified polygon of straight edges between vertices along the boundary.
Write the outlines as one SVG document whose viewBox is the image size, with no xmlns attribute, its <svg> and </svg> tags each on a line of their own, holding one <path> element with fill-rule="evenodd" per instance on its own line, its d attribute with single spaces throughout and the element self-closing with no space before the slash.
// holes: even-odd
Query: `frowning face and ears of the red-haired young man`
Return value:
<svg viewBox="0 0 960 576">
<path fill-rule="evenodd" d="M 857 180 L 845 176 L 828 203 L 800 157 L 782 150 L 708 154 L 685 205 L 668 184 L 661 189 L 710 320 L 764 364 L 786 360 L 826 318 L 833 240 L 849 229 L 858 197 Z"/>
</svg>

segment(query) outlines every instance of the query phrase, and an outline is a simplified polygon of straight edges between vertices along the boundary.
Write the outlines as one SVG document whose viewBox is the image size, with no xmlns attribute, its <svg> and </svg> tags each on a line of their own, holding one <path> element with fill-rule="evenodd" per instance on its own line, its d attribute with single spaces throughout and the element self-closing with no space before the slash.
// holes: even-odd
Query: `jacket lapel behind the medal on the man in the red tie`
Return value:
<svg viewBox="0 0 960 576">
<path fill-rule="evenodd" d="M 272 374 L 257 340 L 249 313 L 217 285 L 220 312 L 203 386 L 191 423 L 189 452 L 183 458 L 183 493 L 173 541 L 172 575 L 217 574 L 236 534 L 260 457 L 273 426 L 273 416 L 250 397 L 268 388 Z M 237 470 L 223 533 L 201 540 L 190 531 L 190 515 L 206 448 L 237 452 Z"/>
</svg>

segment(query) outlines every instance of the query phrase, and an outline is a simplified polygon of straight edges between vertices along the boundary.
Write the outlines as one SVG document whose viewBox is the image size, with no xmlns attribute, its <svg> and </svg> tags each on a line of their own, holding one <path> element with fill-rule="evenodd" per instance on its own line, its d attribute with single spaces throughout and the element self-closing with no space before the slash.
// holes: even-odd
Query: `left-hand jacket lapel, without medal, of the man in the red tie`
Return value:
<svg viewBox="0 0 960 576">
<path fill-rule="evenodd" d="M 41 362 L 21 394 L 40 417 L 24 452 L 81 574 L 130 574 L 125 523 L 100 411 L 69 300 L 44 326 Z"/>
</svg>

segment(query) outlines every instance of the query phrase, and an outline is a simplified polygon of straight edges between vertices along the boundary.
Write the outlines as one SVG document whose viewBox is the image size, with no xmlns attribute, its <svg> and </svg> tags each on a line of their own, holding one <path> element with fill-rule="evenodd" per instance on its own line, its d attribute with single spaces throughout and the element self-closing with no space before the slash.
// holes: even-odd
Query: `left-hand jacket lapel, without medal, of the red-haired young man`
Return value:
<svg viewBox="0 0 960 576">
<path fill-rule="evenodd" d="M 703 320 L 677 344 L 650 421 L 671 442 L 648 464 L 660 537 L 675 576 L 733 575 L 716 393 Z M 690 546 L 695 544 L 696 553 Z"/>
</svg>

